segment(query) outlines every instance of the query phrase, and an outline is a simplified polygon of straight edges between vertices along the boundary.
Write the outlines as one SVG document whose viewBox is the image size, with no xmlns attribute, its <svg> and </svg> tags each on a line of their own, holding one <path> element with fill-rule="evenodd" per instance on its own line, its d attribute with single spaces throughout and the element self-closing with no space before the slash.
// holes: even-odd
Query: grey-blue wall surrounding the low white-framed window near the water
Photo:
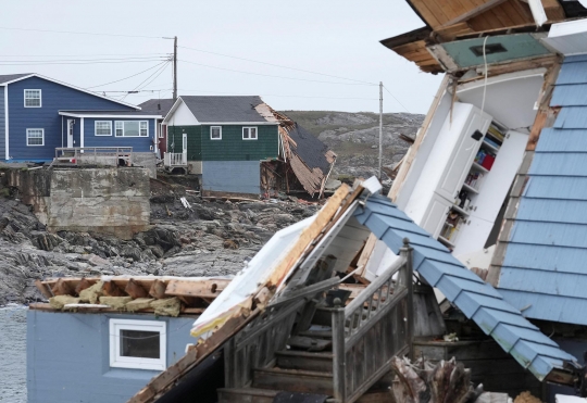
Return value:
<svg viewBox="0 0 587 403">
<path fill-rule="evenodd" d="M 109 319 L 167 323 L 167 366 L 184 354 L 193 318 L 152 315 L 73 314 L 30 310 L 27 315 L 29 403 L 126 402 L 157 370 L 110 367 Z"/>
</svg>

